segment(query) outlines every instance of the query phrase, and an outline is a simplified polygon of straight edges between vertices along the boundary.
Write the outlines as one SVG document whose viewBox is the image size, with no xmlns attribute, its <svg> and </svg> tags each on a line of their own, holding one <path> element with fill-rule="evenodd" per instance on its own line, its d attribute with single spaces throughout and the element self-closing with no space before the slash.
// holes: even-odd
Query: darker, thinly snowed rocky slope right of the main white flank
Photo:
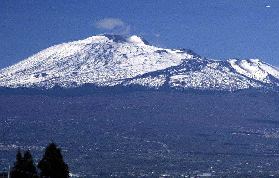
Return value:
<svg viewBox="0 0 279 178">
<path fill-rule="evenodd" d="M 150 81 L 144 82 L 144 81 Z M 153 86 L 157 80 L 157 86 Z M 181 65 L 144 74 L 142 78 L 128 80 L 126 84 L 144 84 L 146 87 L 168 85 L 179 89 L 237 90 L 241 88 L 261 88 L 262 84 L 238 74 L 224 61 L 205 58 L 185 60 Z"/>
</svg>

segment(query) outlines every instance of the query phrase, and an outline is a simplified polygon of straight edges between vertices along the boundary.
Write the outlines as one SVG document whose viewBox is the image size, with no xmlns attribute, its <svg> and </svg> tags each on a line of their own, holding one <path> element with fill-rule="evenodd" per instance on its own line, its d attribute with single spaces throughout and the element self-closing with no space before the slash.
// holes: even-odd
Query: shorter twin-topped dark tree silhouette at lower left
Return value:
<svg viewBox="0 0 279 178">
<path fill-rule="evenodd" d="M 37 170 L 36 166 L 34 165 L 31 152 L 29 150 L 25 151 L 24 156 L 22 157 L 20 150 L 18 150 L 16 161 L 14 162 L 14 167 L 11 171 L 11 178 L 34 178 L 35 175 L 33 174 L 37 174 Z"/>
</svg>

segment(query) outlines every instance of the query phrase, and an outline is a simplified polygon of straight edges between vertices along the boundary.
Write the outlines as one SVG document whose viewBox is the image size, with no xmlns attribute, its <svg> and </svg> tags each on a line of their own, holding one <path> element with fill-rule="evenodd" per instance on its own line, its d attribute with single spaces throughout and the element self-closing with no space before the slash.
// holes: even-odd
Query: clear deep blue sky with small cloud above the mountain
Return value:
<svg viewBox="0 0 279 178">
<path fill-rule="evenodd" d="M 265 7 L 270 6 L 270 7 Z M 0 69 L 60 43 L 140 35 L 202 57 L 279 66 L 279 1 L 1 1 Z"/>
</svg>

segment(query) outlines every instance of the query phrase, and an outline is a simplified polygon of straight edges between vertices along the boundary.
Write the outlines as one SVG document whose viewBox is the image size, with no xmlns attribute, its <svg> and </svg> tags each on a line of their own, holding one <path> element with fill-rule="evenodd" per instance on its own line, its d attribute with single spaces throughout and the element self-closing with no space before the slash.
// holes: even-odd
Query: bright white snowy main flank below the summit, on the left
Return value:
<svg viewBox="0 0 279 178">
<path fill-rule="evenodd" d="M 0 70 L 0 85 L 52 87 L 42 81 L 50 83 L 57 78 L 68 81 L 61 81 L 62 86 L 69 81 L 114 85 L 115 80 L 179 65 L 182 59 L 191 57 L 178 52 L 151 46 L 139 36 L 93 36 L 52 46 Z"/>
</svg>

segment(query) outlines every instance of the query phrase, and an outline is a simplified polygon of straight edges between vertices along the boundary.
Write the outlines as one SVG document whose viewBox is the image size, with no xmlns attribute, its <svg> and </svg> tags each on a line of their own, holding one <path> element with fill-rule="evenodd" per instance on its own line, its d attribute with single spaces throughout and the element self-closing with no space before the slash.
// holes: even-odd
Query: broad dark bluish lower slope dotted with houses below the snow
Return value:
<svg viewBox="0 0 279 178">
<path fill-rule="evenodd" d="M 268 172 L 279 166 L 276 99 L 254 90 L 2 95 L 0 145 L 44 147 L 53 140 L 70 171 L 90 175 Z M 16 152 L 0 147 L 2 167 Z M 43 154 L 31 152 L 36 159 Z"/>
</svg>

